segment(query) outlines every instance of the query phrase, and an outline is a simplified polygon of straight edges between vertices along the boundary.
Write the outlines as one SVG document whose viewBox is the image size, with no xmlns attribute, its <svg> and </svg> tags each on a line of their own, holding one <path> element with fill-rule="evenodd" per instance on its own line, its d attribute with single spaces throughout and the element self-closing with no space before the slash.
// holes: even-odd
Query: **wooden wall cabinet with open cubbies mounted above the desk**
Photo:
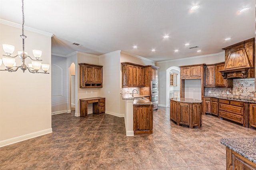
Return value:
<svg viewBox="0 0 256 170">
<path fill-rule="evenodd" d="M 79 63 L 80 88 L 102 87 L 102 67 L 94 64 Z"/>
</svg>

